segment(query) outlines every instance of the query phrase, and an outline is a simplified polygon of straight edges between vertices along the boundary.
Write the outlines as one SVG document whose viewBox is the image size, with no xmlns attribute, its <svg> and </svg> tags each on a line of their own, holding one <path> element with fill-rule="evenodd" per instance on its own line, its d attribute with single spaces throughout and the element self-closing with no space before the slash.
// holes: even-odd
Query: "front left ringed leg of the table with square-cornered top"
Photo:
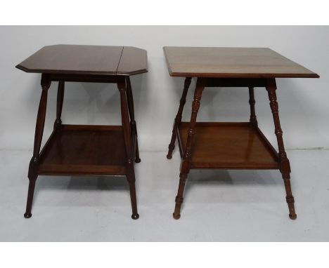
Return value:
<svg viewBox="0 0 329 268">
<path fill-rule="evenodd" d="M 195 135 L 195 123 L 198 116 L 200 107 L 200 100 L 202 91 L 205 88 L 205 79 L 198 78 L 195 86 L 194 100 L 192 103 L 192 114 L 190 120 L 190 126 L 188 128 L 188 138 L 186 141 L 185 152 L 183 153 L 183 159 L 181 160 L 181 173 L 179 175 L 179 189 L 175 199 L 175 210 L 173 213 L 174 219 L 178 220 L 181 217 L 181 204 L 183 203 L 183 192 L 185 188 L 186 179 L 191 168 L 191 147 L 193 137 Z M 182 108 L 183 109 L 183 108 Z"/>
</svg>

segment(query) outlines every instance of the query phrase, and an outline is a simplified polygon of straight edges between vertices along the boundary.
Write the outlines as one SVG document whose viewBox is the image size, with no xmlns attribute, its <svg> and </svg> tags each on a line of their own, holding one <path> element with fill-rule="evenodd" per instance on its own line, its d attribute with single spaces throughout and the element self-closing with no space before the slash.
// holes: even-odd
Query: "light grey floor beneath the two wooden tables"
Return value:
<svg viewBox="0 0 329 268">
<path fill-rule="evenodd" d="M 329 150 L 288 151 L 297 220 L 278 170 L 192 170 L 174 220 L 179 154 L 142 153 L 138 220 L 124 177 L 39 176 L 25 219 L 32 152 L 0 151 L 0 241 L 329 241 Z"/>
</svg>

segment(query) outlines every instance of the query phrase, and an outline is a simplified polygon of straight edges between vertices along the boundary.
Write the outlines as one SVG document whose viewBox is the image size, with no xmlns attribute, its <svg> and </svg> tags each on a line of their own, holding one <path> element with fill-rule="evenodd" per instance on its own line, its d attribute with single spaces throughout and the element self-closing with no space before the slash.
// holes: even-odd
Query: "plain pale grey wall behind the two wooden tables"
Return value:
<svg viewBox="0 0 329 268">
<path fill-rule="evenodd" d="M 15 65 L 43 46 L 58 43 L 148 51 L 149 72 L 131 78 L 141 152 L 167 150 L 182 92 L 183 79 L 167 72 L 163 46 L 269 47 L 318 73 L 320 79 L 277 79 L 280 120 L 287 149 L 329 147 L 329 27 L 22 26 L 0 27 L 0 36 L 0 149 L 32 149 L 41 75 Z M 57 86 L 53 82 L 49 91 L 43 142 L 55 119 Z M 194 86 L 183 119 L 191 114 Z M 259 126 L 276 147 L 265 89 L 256 88 L 255 98 Z M 115 85 L 67 83 L 63 123 L 120 124 L 119 103 Z M 247 121 L 249 113 L 247 88 L 207 88 L 198 121 Z"/>
</svg>

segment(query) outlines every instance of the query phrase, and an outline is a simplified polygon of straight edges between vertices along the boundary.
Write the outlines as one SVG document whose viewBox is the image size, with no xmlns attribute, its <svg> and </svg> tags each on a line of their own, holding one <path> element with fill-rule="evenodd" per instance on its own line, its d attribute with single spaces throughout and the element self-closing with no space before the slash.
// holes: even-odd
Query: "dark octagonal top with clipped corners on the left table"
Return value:
<svg viewBox="0 0 329 268">
<path fill-rule="evenodd" d="M 131 46 L 44 46 L 16 66 L 47 74 L 133 75 L 148 72 L 145 50 Z"/>
</svg>

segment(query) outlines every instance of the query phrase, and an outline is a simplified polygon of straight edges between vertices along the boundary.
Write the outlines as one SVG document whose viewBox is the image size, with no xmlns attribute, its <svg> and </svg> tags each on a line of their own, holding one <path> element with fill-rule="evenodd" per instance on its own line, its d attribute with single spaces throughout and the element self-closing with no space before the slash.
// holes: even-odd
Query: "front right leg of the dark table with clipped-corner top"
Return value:
<svg viewBox="0 0 329 268">
<path fill-rule="evenodd" d="M 130 198 L 131 198 L 131 208 L 132 215 L 131 217 L 134 220 L 137 220 L 139 215 L 137 212 L 137 201 L 136 201 L 136 189 L 135 189 L 135 172 L 134 172 L 134 161 L 132 159 L 132 149 L 131 149 L 131 125 L 129 124 L 129 108 L 127 100 L 127 86 L 125 80 L 120 80 L 117 83 L 117 88 L 120 91 L 120 100 L 121 100 L 121 119 L 122 119 L 122 128 L 124 134 L 124 145 L 127 155 L 127 164 L 126 164 L 126 175 L 129 182 Z"/>
</svg>

